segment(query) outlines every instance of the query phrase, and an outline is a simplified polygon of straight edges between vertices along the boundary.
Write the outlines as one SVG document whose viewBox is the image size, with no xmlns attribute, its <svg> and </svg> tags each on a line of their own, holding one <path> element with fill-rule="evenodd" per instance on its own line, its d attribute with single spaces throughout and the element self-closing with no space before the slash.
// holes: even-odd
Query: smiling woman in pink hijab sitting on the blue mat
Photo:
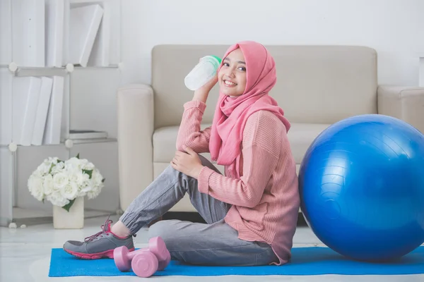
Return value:
<svg viewBox="0 0 424 282">
<path fill-rule="evenodd" d="M 213 124 L 201 130 L 211 88 L 220 86 Z M 257 42 L 232 45 L 217 75 L 184 104 L 177 152 L 163 173 L 130 204 L 120 220 L 84 242 L 68 241 L 77 257 L 113 257 L 134 249 L 132 235 L 189 193 L 206 223 L 159 221 L 149 236 L 165 240 L 172 259 L 189 264 L 285 264 L 299 210 L 298 177 L 288 142 L 290 123 L 269 96 L 275 62 Z M 225 166 L 225 176 L 199 153 Z"/>
</svg>

